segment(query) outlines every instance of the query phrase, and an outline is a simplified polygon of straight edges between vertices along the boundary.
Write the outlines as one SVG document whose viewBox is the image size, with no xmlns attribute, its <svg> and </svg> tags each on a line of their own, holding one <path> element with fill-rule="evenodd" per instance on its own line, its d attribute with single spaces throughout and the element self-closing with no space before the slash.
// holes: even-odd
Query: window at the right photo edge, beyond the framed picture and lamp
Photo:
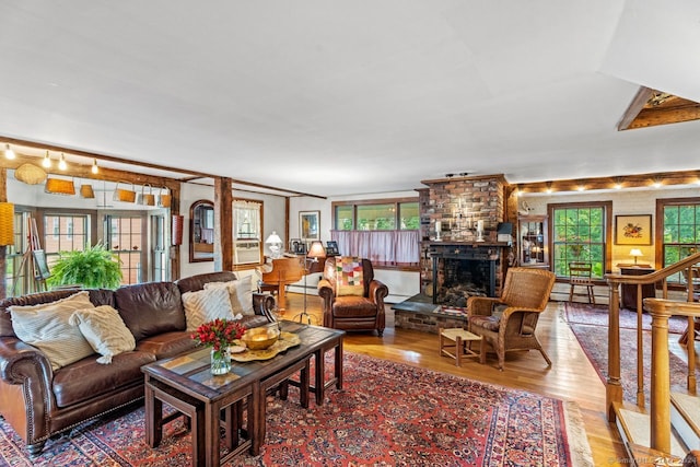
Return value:
<svg viewBox="0 0 700 467">
<path fill-rule="evenodd" d="M 700 198 L 656 200 L 656 219 L 663 220 L 661 264 L 665 268 L 678 262 L 700 248 Z M 669 282 L 682 282 L 680 272 L 668 278 Z"/>
</svg>

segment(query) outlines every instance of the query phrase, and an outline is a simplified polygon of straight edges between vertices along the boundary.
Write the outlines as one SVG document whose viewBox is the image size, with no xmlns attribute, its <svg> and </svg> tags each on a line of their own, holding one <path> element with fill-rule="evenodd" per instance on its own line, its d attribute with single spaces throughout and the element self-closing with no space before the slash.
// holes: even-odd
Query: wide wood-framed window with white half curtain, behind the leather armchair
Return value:
<svg viewBox="0 0 700 467">
<path fill-rule="evenodd" d="M 331 240 L 341 255 L 369 258 L 377 266 L 418 266 L 420 215 L 415 199 L 332 203 Z"/>
</svg>

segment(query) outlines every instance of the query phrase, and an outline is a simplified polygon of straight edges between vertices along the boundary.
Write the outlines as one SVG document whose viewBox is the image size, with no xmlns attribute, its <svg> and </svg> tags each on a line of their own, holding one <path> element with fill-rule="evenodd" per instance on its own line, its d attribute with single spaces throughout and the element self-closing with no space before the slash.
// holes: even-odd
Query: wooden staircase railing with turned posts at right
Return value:
<svg viewBox="0 0 700 467">
<path fill-rule="evenodd" d="M 645 276 L 606 275 L 609 289 L 608 317 L 608 381 L 606 385 L 606 408 L 608 421 L 616 419 L 615 405 L 622 402 L 622 385 L 620 380 L 620 285 L 637 285 L 637 405 L 644 407 L 644 346 L 642 329 L 642 311 L 646 305 L 652 311 L 652 383 L 651 383 L 651 416 L 662 419 L 669 417 L 669 370 L 668 370 L 668 317 L 684 315 L 688 317 L 688 390 L 696 393 L 695 376 L 696 355 L 693 346 L 695 317 L 700 316 L 700 304 L 693 303 L 692 267 L 700 262 L 700 253 Z M 668 278 L 681 271 L 687 271 L 688 294 L 685 302 L 668 300 Z M 642 287 L 661 283 L 662 300 L 646 299 L 642 303 Z M 664 409 L 665 407 L 665 409 Z M 657 417 L 656 417 L 657 418 Z M 654 428 L 655 425 L 655 428 Z M 658 451 L 670 451 L 670 424 L 668 418 L 664 422 L 654 422 L 652 427 L 652 446 Z M 663 432 L 663 433 L 661 433 Z M 668 440 L 668 441 L 666 441 Z"/>
</svg>

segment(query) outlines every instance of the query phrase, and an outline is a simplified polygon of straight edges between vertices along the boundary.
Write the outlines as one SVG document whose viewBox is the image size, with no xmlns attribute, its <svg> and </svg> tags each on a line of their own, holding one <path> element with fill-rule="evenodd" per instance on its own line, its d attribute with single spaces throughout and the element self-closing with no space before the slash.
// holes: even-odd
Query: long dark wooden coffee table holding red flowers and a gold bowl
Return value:
<svg viewBox="0 0 700 467">
<path fill-rule="evenodd" d="M 310 390 L 316 394 L 316 402 L 323 404 L 328 387 L 335 384 L 342 388 L 345 331 L 291 322 L 280 322 L 280 327 L 298 335 L 301 343 L 269 360 L 234 361 L 226 375 L 211 374 L 209 348 L 144 365 L 141 370 L 145 378 L 147 443 L 156 447 L 163 424 L 184 413 L 191 427 L 195 465 L 219 466 L 245 450 L 258 455 L 265 441 L 265 393 L 268 389 L 288 382 L 299 372 L 300 381 L 292 384 L 300 387 L 301 404 L 307 407 Z M 325 381 L 324 355 L 329 350 L 335 350 L 335 373 Z M 314 386 L 310 387 L 312 357 L 316 372 Z M 173 406 L 178 413 L 163 417 L 163 402 Z M 244 408 L 247 411 L 245 427 Z M 222 425 L 225 429 L 223 456 L 220 452 Z"/>
</svg>

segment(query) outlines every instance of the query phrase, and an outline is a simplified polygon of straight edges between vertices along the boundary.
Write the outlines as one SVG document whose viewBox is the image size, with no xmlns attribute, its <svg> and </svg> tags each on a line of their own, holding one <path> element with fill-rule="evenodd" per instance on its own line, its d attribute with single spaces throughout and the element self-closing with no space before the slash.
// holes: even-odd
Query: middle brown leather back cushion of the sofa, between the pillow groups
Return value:
<svg viewBox="0 0 700 467">
<path fill-rule="evenodd" d="M 124 285 L 115 291 L 116 308 L 136 341 L 149 336 L 185 330 L 185 310 L 173 282 Z"/>
</svg>

